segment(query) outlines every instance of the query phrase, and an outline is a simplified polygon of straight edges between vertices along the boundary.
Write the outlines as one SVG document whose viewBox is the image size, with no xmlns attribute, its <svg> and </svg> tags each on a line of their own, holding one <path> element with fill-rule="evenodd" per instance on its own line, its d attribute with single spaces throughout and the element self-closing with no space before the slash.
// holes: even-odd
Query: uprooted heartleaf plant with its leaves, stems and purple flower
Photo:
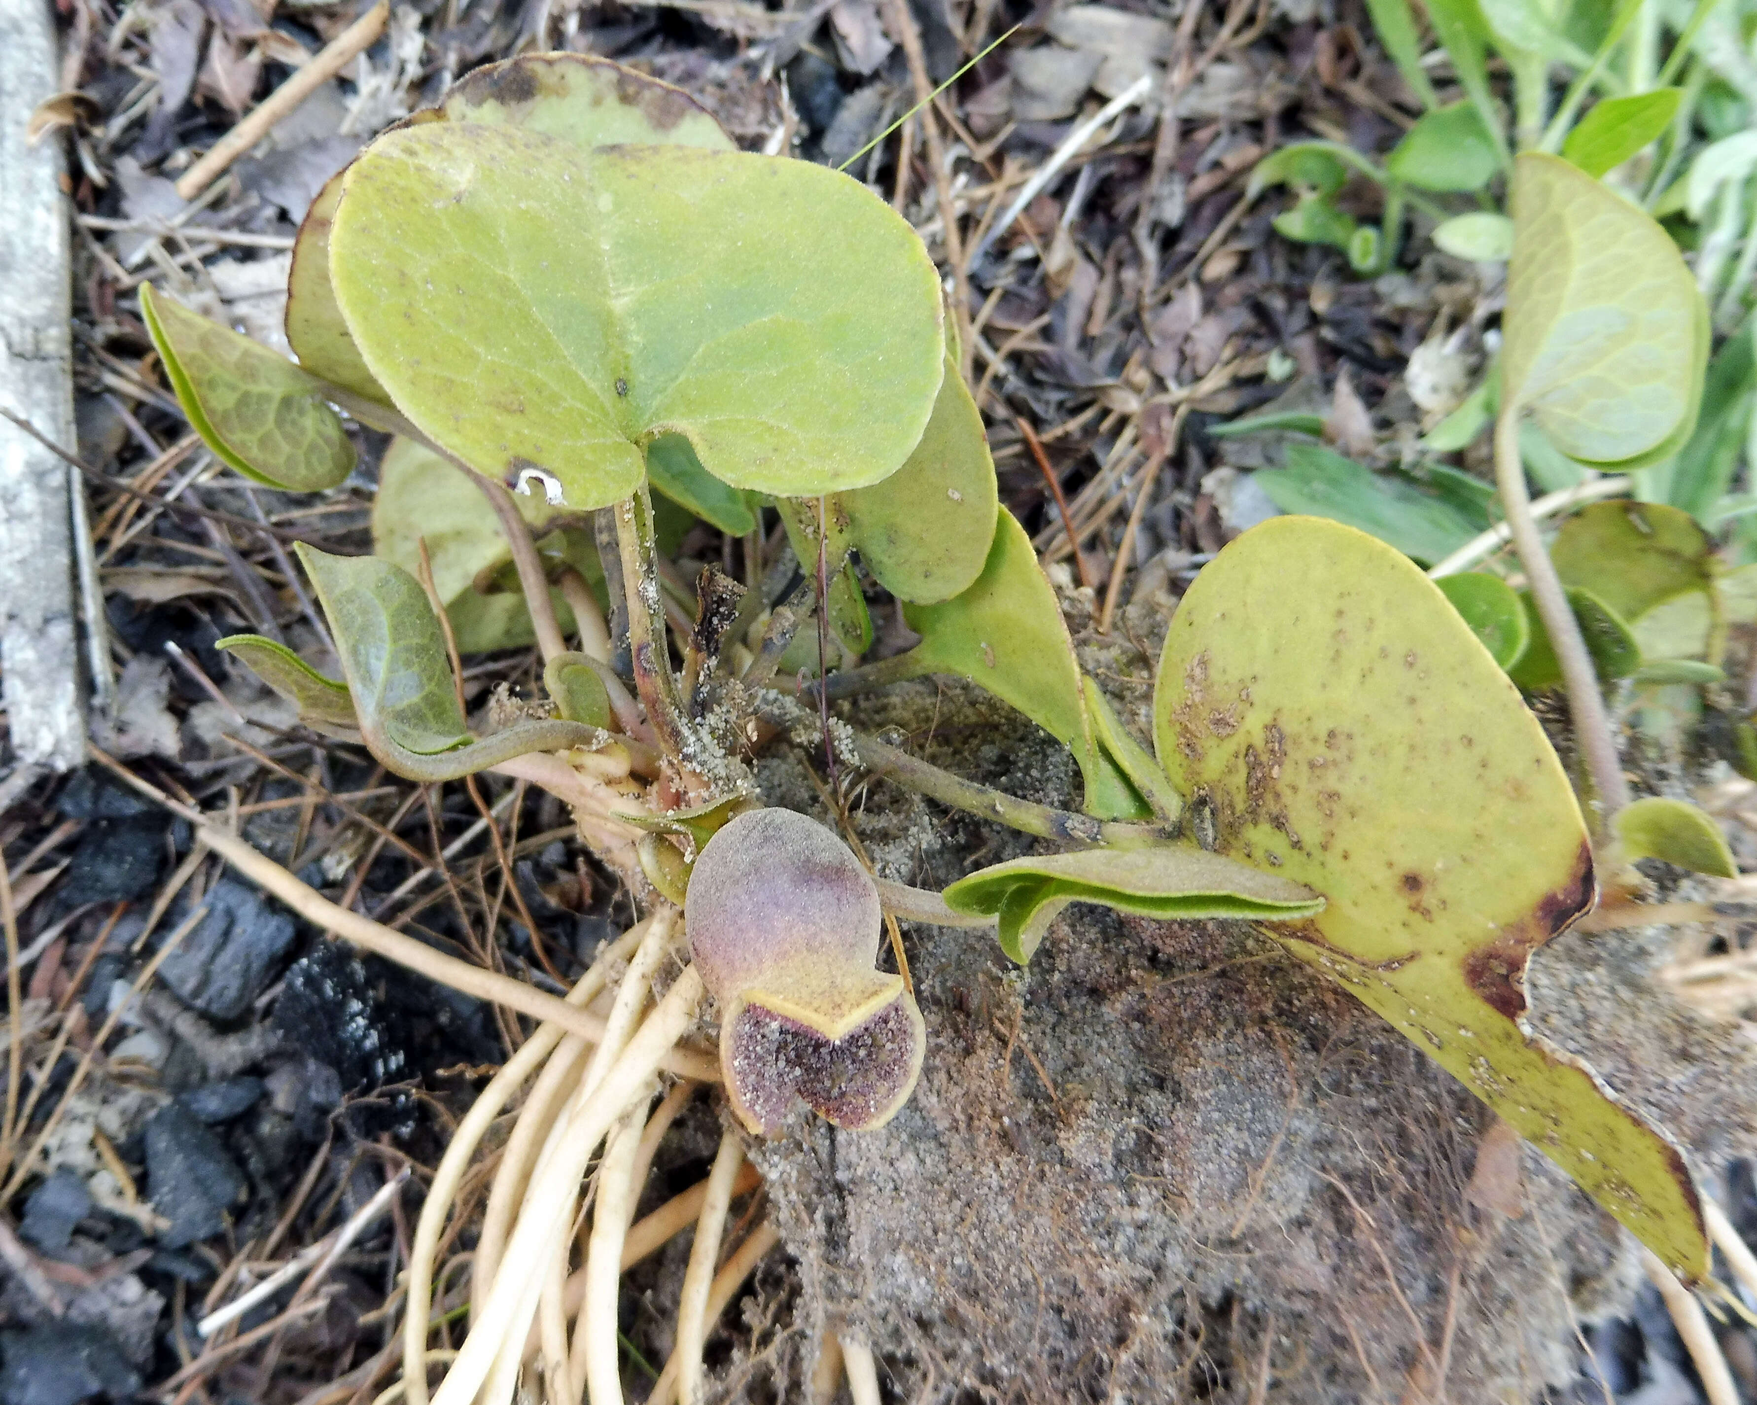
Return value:
<svg viewBox="0 0 1757 1405">
<path fill-rule="evenodd" d="M 1307 156 L 1302 172 L 1342 160 Z M 1678 1152 L 1522 1033 L 1525 961 L 1590 906 L 1592 850 L 1543 732 L 1471 625 L 1390 546 L 1279 518 L 1184 597 L 1149 752 L 1082 676 L 1030 537 L 996 506 L 926 249 L 852 177 L 736 151 L 685 95 L 603 60 L 531 56 L 380 135 L 313 205 L 288 307 L 300 365 L 153 293 L 142 304 L 192 427 L 239 471 L 339 481 L 351 444 L 330 406 L 401 436 L 381 469 L 378 555 L 299 548 L 344 681 L 260 638 L 228 648 L 395 775 L 492 767 L 560 796 L 655 911 L 643 971 L 687 908 L 692 968 L 659 1001 L 675 1026 L 655 1027 L 691 1027 L 689 992 L 706 985 L 747 1128 L 775 1133 L 801 1101 L 866 1128 L 907 1101 L 924 1026 L 907 973 L 877 966 L 884 903 L 998 915 L 1019 961 L 1077 901 L 1232 917 L 1348 985 L 1680 1273 L 1704 1270 Z M 1550 318 L 1504 397 L 1558 423 L 1592 406 L 1557 369 L 1571 365 L 1557 335 L 1581 323 L 1569 316 Z M 1655 328 L 1671 351 L 1685 344 Z M 1590 318 L 1578 334 L 1602 335 Z M 1630 453 L 1680 418 L 1622 414 L 1641 427 Z M 654 490 L 738 537 L 724 550 L 743 553 L 743 581 L 699 557 L 683 569 Z M 963 676 L 1068 746 L 1084 815 L 826 727 L 785 695 L 806 685 L 770 687 L 801 641 L 821 671 L 831 662 L 801 630 L 817 611 L 845 652 L 864 650 L 870 590 L 903 602 L 921 643 L 817 687 Z M 1455 590 L 1509 653 L 1506 587 Z M 520 595 L 524 613 L 497 611 Z M 434 601 L 466 653 L 529 625 L 548 697 L 471 731 Z M 777 727 L 1075 852 L 970 875 L 944 901 L 875 882 L 829 829 L 763 808 L 747 757 Z M 557 1163 L 569 1191 L 592 1147 Z M 539 1226 L 531 1243 L 539 1229 L 555 1240 Z M 515 1317 L 495 1300 L 483 1321 Z M 480 1384 L 474 1340 L 453 1393 Z"/>
</svg>

